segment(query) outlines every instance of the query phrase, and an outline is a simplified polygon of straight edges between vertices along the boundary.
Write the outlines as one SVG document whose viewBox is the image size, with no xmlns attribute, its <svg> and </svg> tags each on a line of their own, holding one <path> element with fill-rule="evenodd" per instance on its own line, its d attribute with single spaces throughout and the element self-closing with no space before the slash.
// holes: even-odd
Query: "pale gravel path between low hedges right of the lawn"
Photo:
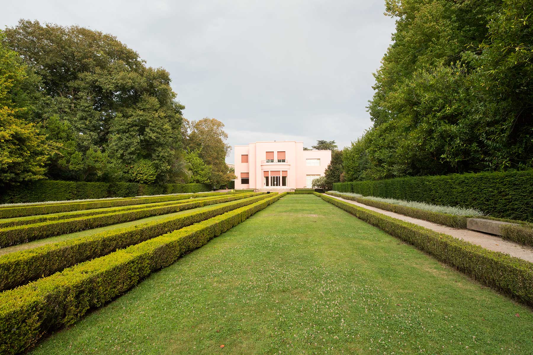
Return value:
<svg viewBox="0 0 533 355">
<path fill-rule="evenodd" d="M 417 224 L 427 229 L 432 229 L 435 232 L 451 235 L 453 237 L 465 240 L 472 244 L 480 245 L 484 247 L 485 249 L 499 251 L 502 253 L 509 254 L 512 257 L 516 257 L 516 258 L 520 258 L 520 259 L 533 262 L 533 248 L 529 246 L 519 245 L 513 242 L 505 241 L 502 238 L 495 236 L 495 235 L 475 232 L 474 230 L 471 230 L 471 229 L 451 228 L 451 227 L 439 225 L 433 222 L 428 222 L 423 219 L 407 217 L 407 216 L 403 216 L 403 214 L 382 210 L 381 208 L 367 206 L 366 204 L 362 204 L 356 201 L 345 200 L 345 199 L 342 199 L 341 197 L 336 197 L 332 195 L 328 195 L 328 196 L 333 197 L 334 199 L 337 199 L 337 200 L 341 200 L 341 201 L 345 201 L 345 202 L 357 205 L 362 208 L 366 208 L 367 210 L 376 211 L 376 212 L 385 214 L 386 216 L 390 216 L 390 217 L 394 217 L 397 219 L 401 219 L 403 221 L 411 222 L 413 224 Z"/>
</svg>

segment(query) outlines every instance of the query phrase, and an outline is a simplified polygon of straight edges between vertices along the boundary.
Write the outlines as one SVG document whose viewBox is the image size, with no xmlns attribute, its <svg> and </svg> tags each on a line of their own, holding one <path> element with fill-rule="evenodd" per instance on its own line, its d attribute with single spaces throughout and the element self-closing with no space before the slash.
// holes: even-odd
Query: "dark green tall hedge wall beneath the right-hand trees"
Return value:
<svg viewBox="0 0 533 355">
<path fill-rule="evenodd" d="M 363 196 L 477 208 L 492 217 L 533 222 L 533 169 L 335 183 Z"/>
</svg>

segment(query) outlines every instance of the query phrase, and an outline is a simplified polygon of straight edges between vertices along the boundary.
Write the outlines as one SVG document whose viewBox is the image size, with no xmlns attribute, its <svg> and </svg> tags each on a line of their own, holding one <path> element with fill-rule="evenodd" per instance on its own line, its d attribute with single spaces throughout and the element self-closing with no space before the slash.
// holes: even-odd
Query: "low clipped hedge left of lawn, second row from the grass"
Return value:
<svg viewBox="0 0 533 355">
<path fill-rule="evenodd" d="M 102 257 L 117 249 L 190 226 L 219 214 L 266 199 L 269 196 L 263 194 L 238 201 L 221 203 L 199 212 L 191 211 L 141 225 L 110 230 L 87 237 L 6 254 L 0 257 L 0 291 L 52 275 L 79 262 Z"/>
</svg>

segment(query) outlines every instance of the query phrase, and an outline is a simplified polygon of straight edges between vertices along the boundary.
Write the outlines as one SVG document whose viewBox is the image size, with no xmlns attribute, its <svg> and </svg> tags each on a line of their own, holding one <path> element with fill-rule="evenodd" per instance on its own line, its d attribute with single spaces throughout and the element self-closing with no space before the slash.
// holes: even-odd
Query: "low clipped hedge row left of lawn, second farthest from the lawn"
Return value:
<svg viewBox="0 0 533 355">
<path fill-rule="evenodd" d="M 196 197 L 195 201 L 213 200 L 213 199 L 219 199 L 220 197 L 221 195 L 207 196 L 207 197 L 198 196 Z M 76 218 L 76 217 L 82 217 L 82 216 L 92 216 L 94 214 L 103 214 L 103 213 L 109 213 L 109 212 L 140 210 L 140 209 L 148 208 L 148 207 L 150 208 L 162 207 L 162 206 L 170 205 L 170 204 L 180 204 L 180 203 L 189 203 L 189 202 L 191 202 L 191 198 L 181 199 L 177 201 L 152 202 L 150 204 L 143 203 L 143 204 L 135 204 L 135 205 L 126 205 L 122 207 L 108 207 L 108 208 L 90 209 L 90 210 L 82 210 L 82 211 L 70 211 L 70 212 L 54 213 L 54 214 L 40 214 L 37 216 L 16 217 L 16 218 L 9 218 L 9 219 L 3 219 L 3 220 L 0 219 L 0 228 L 22 226 L 22 225 L 39 223 L 39 222 L 55 221 L 55 220 L 60 220 L 60 219 Z"/>
</svg>

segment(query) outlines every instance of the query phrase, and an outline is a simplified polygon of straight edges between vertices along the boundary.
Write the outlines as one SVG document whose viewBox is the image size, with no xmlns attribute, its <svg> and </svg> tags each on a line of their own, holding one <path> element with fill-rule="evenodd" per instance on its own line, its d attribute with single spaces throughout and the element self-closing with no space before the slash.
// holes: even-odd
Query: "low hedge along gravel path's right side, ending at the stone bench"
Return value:
<svg viewBox="0 0 533 355">
<path fill-rule="evenodd" d="M 381 208 L 382 210 L 400 213 L 404 216 L 419 218 L 425 221 L 430 221 L 452 228 L 466 228 L 466 217 L 464 216 L 455 216 L 454 214 L 426 211 L 413 207 L 400 206 L 397 204 L 365 199 L 365 197 L 337 194 L 331 191 L 326 192 L 326 194 L 341 197 L 345 200 L 357 201 L 368 206 Z"/>
</svg>

